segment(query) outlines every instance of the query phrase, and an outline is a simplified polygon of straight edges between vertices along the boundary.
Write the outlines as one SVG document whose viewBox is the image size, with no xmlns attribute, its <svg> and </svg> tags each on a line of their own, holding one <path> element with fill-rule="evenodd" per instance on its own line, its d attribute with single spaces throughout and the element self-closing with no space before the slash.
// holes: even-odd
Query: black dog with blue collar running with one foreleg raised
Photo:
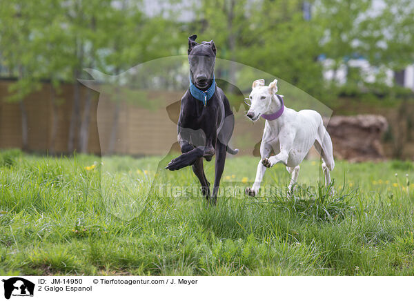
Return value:
<svg viewBox="0 0 414 301">
<path fill-rule="evenodd" d="M 215 204 L 221 175 L 226 162 L 226 151 L 237 154 L 239 150 L 228 146 L 235 117 L 223 90 L 215 84 L 214 68 L 216 48 L 212 41 L 195 42 L 197 35 L 188 38 L 190 63 L 190 88 L 181 98 L 177 124 L 179 157 L 172 159 L 166 168 L 170 171 L 193 165 L 193 172 L 201 183 L 207 200 Z M 203 157 L 210 161 L 216 155 L 213 195 L 203 168 Z"/>
</svg>

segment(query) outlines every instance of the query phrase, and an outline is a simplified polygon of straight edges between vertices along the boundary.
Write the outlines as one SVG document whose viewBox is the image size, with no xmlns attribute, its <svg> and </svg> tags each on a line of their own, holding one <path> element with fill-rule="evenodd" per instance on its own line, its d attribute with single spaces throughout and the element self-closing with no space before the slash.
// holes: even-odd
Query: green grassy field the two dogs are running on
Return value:
<svg viewBox="0 0 414 301">
<path fill-rule="evenodd" d="M 294 197 L 225 194 L 207 206 L 197 193 L 150 191 L 161 159 L 0 152 L 0 274 L 414 275 L 411 163 L 337 162 L 329 195 L 319 162 L 306 161 Z M 224 186 L 247 186 L 257 161 L 228 159 Z M 275 166 L 265 185 L 288 176 Z M 190 168 L 158 180 L 198 185 Z"/>
</svg>

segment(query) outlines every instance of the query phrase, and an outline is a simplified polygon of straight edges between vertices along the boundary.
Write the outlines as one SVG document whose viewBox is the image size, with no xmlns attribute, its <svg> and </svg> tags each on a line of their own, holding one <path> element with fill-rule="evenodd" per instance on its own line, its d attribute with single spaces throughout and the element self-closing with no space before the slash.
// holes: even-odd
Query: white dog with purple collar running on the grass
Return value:
<svg viewBox="0 0 414 301">
<path fill-rule="evenodd" d="M 291 193 L 299 175 L 299 164 L 313 145 L 322 156 L 325 186 L 328 186 L 331 182 L 329 171 L 333 170 L 335 162 L 331 137 L 324 127 L 321 115 L 315 110 L 296 112 L 286 108 L 282 96 L 276 93 L 277 79 L 269 86 L 264 86 L 264 79 L 253 82 L 247 117 L 255 122 L 262 116 L 266 123 L 260 145 L 262 158 L 257 165 L 255 184 L 252 188 L 246 188 L 246 195 L 257 195 L 266 167 L 272 167 L 279 162 L 285 164 L 288 172 L 292 174 L 288 186 Z M 269 157 L 272 151 L 276 155 Z"/>
</svg>

